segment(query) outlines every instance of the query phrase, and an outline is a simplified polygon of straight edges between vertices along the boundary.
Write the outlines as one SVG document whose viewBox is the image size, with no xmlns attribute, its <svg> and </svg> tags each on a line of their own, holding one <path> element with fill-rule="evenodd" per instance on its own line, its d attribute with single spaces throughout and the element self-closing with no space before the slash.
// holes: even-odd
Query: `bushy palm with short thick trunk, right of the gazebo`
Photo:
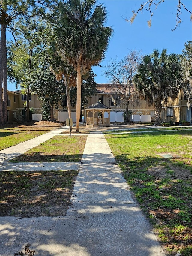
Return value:
<svg viewBox="0 0 192 256">
<path fill-rule="evenodd" d="M 145 55 L 138 65 L 137 74 L 134 76 L 136 92 L 149 106 L 154 104 L 155 124 L 161 124 L 162 102 L 168 96 L 176 98 L 178 95 L 177 84 L 180 79 L 180 63 L 176 54 L 168 54 L 167 49 L 154 50 L 150 55 Z"/>
</svg>

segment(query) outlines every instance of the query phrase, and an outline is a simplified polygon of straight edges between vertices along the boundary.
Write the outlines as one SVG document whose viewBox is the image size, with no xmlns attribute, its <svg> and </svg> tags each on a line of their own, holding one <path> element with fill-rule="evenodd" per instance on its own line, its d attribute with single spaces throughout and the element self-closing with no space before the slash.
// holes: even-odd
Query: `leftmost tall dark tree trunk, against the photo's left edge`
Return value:
<svg viewBox="0 0 192 256">
<path fill-rule="evenodd" d="M 0 39 L 0 126 L 4 125 L 3 117 L 3 99 L 2 99 L 2 86 L 3 86 L 3 71 L 4 71 L 4 54 L 6 51 L 6 25 L 1 24 L 1 39 Z"/>
</svg>

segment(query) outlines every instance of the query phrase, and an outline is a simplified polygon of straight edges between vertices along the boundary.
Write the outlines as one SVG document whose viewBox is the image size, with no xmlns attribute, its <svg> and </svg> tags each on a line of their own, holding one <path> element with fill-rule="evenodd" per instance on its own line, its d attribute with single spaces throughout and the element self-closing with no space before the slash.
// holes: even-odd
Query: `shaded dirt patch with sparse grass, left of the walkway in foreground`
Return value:
<svg viewBox="0 0 192 256">
<path fill-rule="evenodd" d="M 0 216 L 65 216 L 77 171 L 1 172 Z"/>
</svg>

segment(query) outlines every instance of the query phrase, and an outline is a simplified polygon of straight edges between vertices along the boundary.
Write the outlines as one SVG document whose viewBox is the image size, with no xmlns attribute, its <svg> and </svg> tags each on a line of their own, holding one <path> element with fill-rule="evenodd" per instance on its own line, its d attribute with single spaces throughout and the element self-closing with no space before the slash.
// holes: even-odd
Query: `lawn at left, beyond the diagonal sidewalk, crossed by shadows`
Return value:
<svg viewBox="0 0 192 256">
<path fill-rule="evenodd" d="M 31 121 L 0 128 L 0 150 L 9 148 L 26 140 L 61 127 L 62 123 L 49 121 Z"/>
</svg>

